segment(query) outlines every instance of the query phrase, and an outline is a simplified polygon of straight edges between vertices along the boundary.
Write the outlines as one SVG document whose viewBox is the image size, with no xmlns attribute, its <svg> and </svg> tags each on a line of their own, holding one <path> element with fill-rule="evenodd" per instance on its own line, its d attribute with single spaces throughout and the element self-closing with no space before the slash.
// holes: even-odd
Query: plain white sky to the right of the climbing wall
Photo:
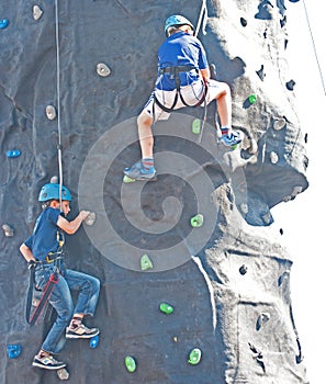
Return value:
<svg viewBox="0 0 326 384">
<path fill-rule="evenodd" d="M 297 113 L 301 127 L 308 134 L 308 189 L 294 201 L 272 208 L 273 226 L 282 228 L 280 241 L 293 258 L 291 291 L 294 320 L 299 331 L 307 377 L 311 384 L 326 383 L 326 250 L 324 134 L 326 95 L 319 67 L 326 81 L 325 12 L 321 0 L 285 1 L 289 33 L 290 76 L 296 82 Z M 305 7 L 304 7 L 305 5 Z M 289 78 L 290 80 L 290 78 Z"/>
</svg>

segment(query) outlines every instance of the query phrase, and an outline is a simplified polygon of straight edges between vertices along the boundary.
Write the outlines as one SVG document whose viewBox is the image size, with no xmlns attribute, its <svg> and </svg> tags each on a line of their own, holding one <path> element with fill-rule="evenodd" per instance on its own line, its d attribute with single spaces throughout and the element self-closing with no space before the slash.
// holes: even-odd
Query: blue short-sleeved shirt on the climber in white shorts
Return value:
<svg viewBox="0 0 326 384">
<path fill-rule="evenodd" d="M 158 70 L 172 66 L 193 66 L 195 69 L 209 68 L 205 49 L 202 43 L 186 32 L 169 36 L 158 49 Z M 188 86 L 199 79 L 195 70 L 180 74 L 180 84 Z M 156 88 L 171 91 L 176 89 L 175 80 L 169 74 L 159 75 Z"/>
</svg>

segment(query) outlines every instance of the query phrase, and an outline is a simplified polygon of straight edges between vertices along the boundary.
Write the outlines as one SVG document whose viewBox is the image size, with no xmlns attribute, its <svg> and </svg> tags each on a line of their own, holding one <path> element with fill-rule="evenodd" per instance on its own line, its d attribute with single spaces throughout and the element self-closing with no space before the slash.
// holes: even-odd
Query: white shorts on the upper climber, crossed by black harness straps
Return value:
<svg viewBox="0 0 326 384">
<path fill-rule="evenodd" d="M 209 104 L 212 100 L 216 99 L 218 93 L 223 91 L 222 83 L 216 80 L 210 80 L 207 83 L 207 94 L 206 94 L 206 104 Z M 181 87 L 180 92 L 182 94 L 183 100 L 188 105 L 195 106 L 198 102 L 202 99 L 204 92 L 204 86 L 201 80 L 193 82 L 190 86 Z M 176 99 L 177 90 L 173 91 L 164 91 L 160 89 L 155 89 L 147 103 L 145 104 L 143 112 L 153 117 L 153 108 L 155 108 L 155 120 L 168 120 L 170 116 L 169 112 L 165 112 L 157 103 L 155 103 L 154 94 L 158 99 L 158 101 L 165 105 L 166 108 L 171 108 L 175 99 Z M 177 104 L 173 110 L 179 110 L 180 108 L 184 108 L 187 105 L 183 104 L 180 95 L 178 95 Z M 204 106 L 204 102 L 200 106 Z M 143 113 L 142 112 L 142 113 Z"/>
</svg>

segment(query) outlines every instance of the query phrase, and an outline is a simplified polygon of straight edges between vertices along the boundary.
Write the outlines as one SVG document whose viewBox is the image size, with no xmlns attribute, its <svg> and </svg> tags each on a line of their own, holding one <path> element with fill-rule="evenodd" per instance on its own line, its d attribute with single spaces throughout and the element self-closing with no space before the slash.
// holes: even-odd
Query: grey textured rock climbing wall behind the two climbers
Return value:
<svg viewBox="0 0 326 384">
<path fill-rule="evenodd" d="M 244 148 L 217 148 L 213 105 L 200 140 L 191 124 L 202 111 L 186 109 L 155 127 L 159 176 L 149 185 L 122 183 L 123 168 L 139 157 L 135 116 L 154 84 L 165 19 L 182 13 L 196 24 L 202 1 L 63 0 L 58 24 L 55 3 L 0 4 L 0 222 L 13 229 L 1 234 L 1 383 L 58 380 L 31 366 L 52 316 L 24 323 L 29 273 L 19 255 L 40 213 L 38 191 L 58 173 L 58 117 L 71 217 L 78 208 L 97 213 L 92 227 L 68 238 L 67 262 L 102 283 L 89 320 L 101 328 L 98 348 L 69 341 L 60 355 L 70 382 L 307 383 L 292 260 L 269 228 L 270 208 L 307 188 L 286 65 L 288 1 L 207 1 L 199 37 L 232 88 Z M 204 224 L 192 228 L 196 213 Z M 153 268 L 142 271 L 145 253 Z M 161 302 L 175 312 L 162 314 Z M 7 346 L 18 343 L 22 352 L 10 359 Z M 193 348 L 202 351 L 198 365 L 188 362 Z"/>
</svg>

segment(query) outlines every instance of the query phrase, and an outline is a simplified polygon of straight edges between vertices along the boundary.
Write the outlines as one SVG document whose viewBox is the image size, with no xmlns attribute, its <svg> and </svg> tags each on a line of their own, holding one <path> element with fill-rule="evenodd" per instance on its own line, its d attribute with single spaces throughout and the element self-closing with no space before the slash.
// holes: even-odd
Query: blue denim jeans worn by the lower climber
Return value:
<svg viewBox="0 0 326 384">
<path fill-rule="evenodd" d="M 36 286 L 43 290 L 54 272 L 55 266 L 41 264 L 35 269 Z M 70 290 L 78 290 L 74 307 Z M 61 268 L 58 282 L 49 297 L 57 318 L 48 331 L 42 349 L 49 353 L 59 353 L 64 348 L 63 335 L 74 314 L 93 316 L 100 293 L 100 281 L 89 274 Z"/>
</svg>

